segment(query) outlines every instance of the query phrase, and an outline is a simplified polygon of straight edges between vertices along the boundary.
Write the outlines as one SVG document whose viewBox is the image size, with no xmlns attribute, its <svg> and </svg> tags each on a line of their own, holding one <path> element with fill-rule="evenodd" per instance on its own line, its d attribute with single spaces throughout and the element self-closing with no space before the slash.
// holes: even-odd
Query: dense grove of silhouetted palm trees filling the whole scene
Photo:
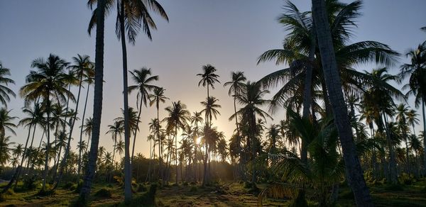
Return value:
<svg viewBox="0 0 426 207">
<path fill-rule="evenodd" d="M 400 63 L 400 54 L 388 45 L 351 41 L 362 1 L 314 2 L 313 14 L 318 12 L 315 9 L 326 9 L 324 16 L 318 12 L 317 18 L 285 2 L 278 21 L 288 35 L 279 49 L 258 58 L 258 64 L 273 61 L 285 69 L 250 81 L 244 72 L 219 77 L 213 65 L 203 65 L 196 74 L 198 86 L 206 90 L 200 98 L 203 109 L 189 111 L 185 100 L 168 99 L 165 88 L 156 84 L 160 77 L 153 69 L 131 70 L 127 82 L 126 35 L 132 44 L 141 30 L 151 39 L 156 26 L 148 12 L 168 21 L 160 4 L 89 1 L 90 8 L 96 7 L 89 23 L 89 33 L 96 28 L 94 61 L 87 55 L 71 57 L 70 62 L 53 54 L 40 57 L 31 62 L 32 70 L 19 91 L 9 89 L 14 84 L 8 78 L 11 69 L 0 63 L 0 164 L 4 179 L 10 180 L 2 193 L 16 188 L 18 182 L 28 189 L 41 184 L 40 195 L 73 182 L 78 184 L 80 201 L 87 202 L 95 181 L 124 186 L 130 201 L 132 188 L 141 182 L 160 186 L 201 182 L 204 186 L 241 180 L 253 191 L 258 191 L 256 183 L 268 183 L 258 191 L 259 198 L 286 196 L 298 206 L 306 206 L 308 191 L 315 189 L 309 198 L 328 206 L 337 201 L 339 185 L 346 180 L 356 203 L 368 206 L 366 183 L 398 184 L 425 177 L 426 42 L 404 54 L 408 62 Z M 122 45 L 124 104 L 122 116 L 107 123 L 107 132 L 100 132 L 104 18 L 114 9 Z M 337 87 L 327 77 L 324 33 L 320 33 L 324 22 L 331 35 Z M 364 72 L 354 69 L 363 64 L 376 67 Z M 398 74 L 388 72 L 395 67 Z M 229 99 L 234 101 L 229 122 L 235 130 L 229 138 L 214 124 L 221 116 L 219 99 L 214 97 L 217 86 L 229 89 Z M 342 100 L 336 98 L 336 88 Z M 86 111 L 93 89 L 91 116 Z M 7 107 L 15 93 L 23 99 L 25 117 L 13 116 Z M 136 103 L 128 103 L 128 96 L 135 96 Z M 414 97 L 413 106 L 410 97 Z M 343 112 L 338 103 L 346 106 Z M 150 152 L 144 157 L 135 151 L 142 145 L 138 135 L 147 110 L 155 110 L 157 116 L 148 123 Z M 165 117 L 159 116 L 161 110 Z M 274 116 L 283 110 L 284 117 Z M 349 134 L 344 134 L 346 120 Z M 73 134 L 74 129 L 80 133 Z M 28 131 L 25 142 L 13 141 L 15 130 Z M 99 145 L 102 133 L 114 142 L 111 152 Z"/>
</svg>

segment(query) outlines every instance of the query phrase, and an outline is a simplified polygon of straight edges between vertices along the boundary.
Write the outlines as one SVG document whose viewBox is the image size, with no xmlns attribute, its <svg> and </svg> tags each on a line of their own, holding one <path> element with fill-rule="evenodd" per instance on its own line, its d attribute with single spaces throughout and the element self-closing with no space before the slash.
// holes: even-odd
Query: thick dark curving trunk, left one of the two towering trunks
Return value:
<svg viewBox="0 0 426 207">
<path fill-rule="evenodd" d="M 99 145 L 99 130 L 102 117 L 102 91 L 104 81 L 104 21 L 105 21 L 105 0 L 97 1 L 97 19 L 96 19 L 96 56 L 94 65 L 94 103 L 93 103 L 93 129 L 92 145 L 90 146 L 89 162 L 87 164 L 86 174 L 82 190 L 80 191 L 80 201 L 87 203 L 94 171 L 96 169 L 97 152 Z"/>
</svg>

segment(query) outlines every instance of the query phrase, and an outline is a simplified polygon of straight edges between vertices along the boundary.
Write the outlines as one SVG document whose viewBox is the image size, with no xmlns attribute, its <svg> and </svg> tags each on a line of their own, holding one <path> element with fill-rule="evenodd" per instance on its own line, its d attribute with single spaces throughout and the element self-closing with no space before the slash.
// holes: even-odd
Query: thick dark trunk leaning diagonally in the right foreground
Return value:
<svg viewBox="0 0 426 207">
<path fill-rule="evenodd" d="M 321 52 L 322 69 L 324 70 L 324 78 L 329 91 L 329 100 L 334 112 L 334 123 L 337 125 L 337 132 L 339 133 L 342 145 L 346 174 L 348 175 L 349 185 L 354 192 L 356 205 L 373 206 L 366 181 L 364 180 L 361 164 L 356 155 L 326 12 L 324 0 L 312 0 L 312 13 Z"/>
</svg>

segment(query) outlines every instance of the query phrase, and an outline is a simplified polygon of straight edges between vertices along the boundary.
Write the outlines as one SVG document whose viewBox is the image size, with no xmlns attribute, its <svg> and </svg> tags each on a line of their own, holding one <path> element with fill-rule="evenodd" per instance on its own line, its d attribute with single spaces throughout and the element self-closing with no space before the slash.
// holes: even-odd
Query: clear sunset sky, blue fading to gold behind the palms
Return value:
<svg viewBox="0 0 426 207">
<path fill-rule="evenodd" d="M 153 31 L 153 40 L 139 33 L 135 45 L 128 45 L 129 70 L 148 67 L 160 77 L 156 82 L 163 86 L 168 100 L 160 109 L 170 106 L 171 101 L 182 101 L 191 111 L 201 111 L 200 101 L 206 98 L 206 89 L 197 86 L 196 77 L 202 72 L 202 65 L 211 64 L 217 68 L 220 84 L 215 84 L 211 96 L 219 99 L 221 116 L 214 125 L 224 131 L 229 138 L 234 130 L 234 122 L 228 118 L 234 111 L 233 101 L 228 96 L 224 82 L 229 81 L 233 71 L 244 71 L 247 79 L 256 81 L 261 77 L 282 69 L 285 65 L 266 62 L 257 65 L 257 58 L 266 50 L 280 48 L 286 31 L 276 20 L 283 12 L 282 0 L 158 0 L 168 13 L 169 22 L 153 14 L 158 30 Z M 293 1 L 301 11 L 310 10 L 310 1 Z M 344 1 L 350 2 L 350 1 Z M 352 42 L 376 40 L 389 45 L 393 50 L 405 54 L 408 49 L 417 47 L 426 40 L 426 33 L 419 28 L 426 26 L 426 1 L 407 0 L 364 1 L 358 28 L 354 30 Z M 48 57 L 50 53 L 67 61 L 77 54 L 89 55 L 94 61 L 94 35 L 87 33 L 87 24 L 92 11 L 85 1 L 67 0 L 13 0 L 0 1 L 0 61 L 11 69 L 11 78 L 16 84 L 10 86 L 18 94 L 25 84 L 25 77 L 31 70 L 31 62 L 38 57 Z M 111 11 L 105 22 L 104 53 L 104 102 L 102 111 L 101 136 L 99 145 L 112 151 L 114 142 L 111 135 L 105 135 L 107 125 L 121 116 L 122 99 L 122 60 L 121 45 L 115 35 L 116 11 Z M 399 58 L 391 74 L 398 73 L 399 65 L 406 62 Z M 354 66 L 360 71 L 378 67 L 376 65 Z M 129 79 L 129 85 L 133 84 Z M 396 85 L 400 88 L 400 85 Z M 93 89 L 93 88 L 92 88 Z M 77 89 L 72 89 L 77 92 Z M 85 91 L 82 92 L 84 94 Z M 76 93 L 75 93 L 76 94 Z M 136 108 L 136 94 L 129 96 L 129 104 Z M 413 99 L 409 104 L 414 106 Z M 87 115 L 92 116 L 93 91 L 89 91 Z M 23 118 L 23 99 L 19 96 L 11 100 L 8 108 L 11 115 Z M 72 106 L 74 107 L 74 106 Z M 80 104 L 79 111 L 82 111 Z M 421 111 L 420 108 L 418 111 Z M 80 113 L 80 117 L 81 117 Z M 165 117 L 160 110 L 160 119 Z M 283 119 L 283 111 L 274 115 L 274 121 Z M 141 132 L 136 140 L 136 153 L 149 154 L 148 122 L 156 117 L 154 107 L 142 108 Z M 419 117 L 421 120 L 421 117 Z M 79 122 L 76 125 L 80 125 Z M 417 127 L 416 130 L 422 130 Z M 25 142 L 26 131 L 16 129 L 14 142 Z M 78 140 L 78 126 L 73 132 L 73 144 Z M 41 132 L 36 133 L 38 145 Z M 87 138 L 86 138 L 87 139 Z"/>
</svg>

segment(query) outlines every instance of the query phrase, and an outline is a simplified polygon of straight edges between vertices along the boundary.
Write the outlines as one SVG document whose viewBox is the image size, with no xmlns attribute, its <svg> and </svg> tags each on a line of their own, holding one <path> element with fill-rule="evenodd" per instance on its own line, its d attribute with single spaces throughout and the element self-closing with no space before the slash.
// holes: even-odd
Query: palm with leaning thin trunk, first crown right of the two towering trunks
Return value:
<svg viewBox="0 0 426 207">
<path fill-rule="evenodd" d="M 129 86 L 129 94 L 131 91 L 137 90 L 138 95 L 136 96 L 136 106 L 138 106 L 138 124 L 141 122 L 141 112 L 142 112 L 142 104 L 147 105 L 149 101 L 149 92 L 153 89 L 157 88 L 157 86 L 152 85 L 151 83 L 154 81 L 158 81 L 158 75 L 151 76 L 151 68 L 147 69 L 146 67 L 142 67 L 137 70 L 134 69 L 133 72 L 130 72 L 132 75 L 133 82 L 136 85 Z M 138 105 L 139 102 L 139 105 Z M 137 130 L 133 133 L 133 147 L 131 150 L 131 161 L 133 162 L 133 155 L 135 152 L 135 143 L 136 143 L 136 133 Z"/>
</svg>

